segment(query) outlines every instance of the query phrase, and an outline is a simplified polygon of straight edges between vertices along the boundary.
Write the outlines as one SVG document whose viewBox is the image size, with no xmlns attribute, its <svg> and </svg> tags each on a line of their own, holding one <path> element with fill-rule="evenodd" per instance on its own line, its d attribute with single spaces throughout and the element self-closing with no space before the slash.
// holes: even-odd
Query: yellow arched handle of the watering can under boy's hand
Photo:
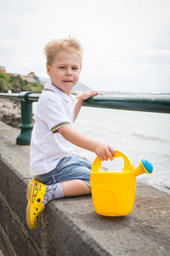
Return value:
<svg viewBox="0 0 170 256">
<path fill-rule="evenodd" d="M 114 156 L 114 158 L 116 158 L 116 157 L 122 157 L 122 159 L 124 160 L 124 168 L 122 171 L 132 171 L 133 172 L 133 170 L 134 170 L 133 162 L 132 162 L 132 160 L 130 160 L 127 157 L 126 154 L 122 153 L 121 151 L 116 150 L 116 155 Z M 94 160 L 91 170 L 92 170 L 92 172 L 103 171 L 102 166 L 101 166 L 101 160 L 99 159 L 98 156 Z"/>
</svg>

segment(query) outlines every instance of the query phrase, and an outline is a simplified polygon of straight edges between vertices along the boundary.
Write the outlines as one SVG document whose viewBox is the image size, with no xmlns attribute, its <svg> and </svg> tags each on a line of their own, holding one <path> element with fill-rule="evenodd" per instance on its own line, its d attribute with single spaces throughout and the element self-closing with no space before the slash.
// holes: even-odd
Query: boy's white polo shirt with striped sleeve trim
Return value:
<svg viewBox="0 0 170 256">
<path fill-rule="evenodd" d="M 73 153 L 73 144 L 57 129 L 73 125 L 77 99 L 51 84 L 45 84 L 37 102 L 36 122 L 30 145 L 30 172 L 37 176 L 52 171 L 59 160 Z"/>
</svg>

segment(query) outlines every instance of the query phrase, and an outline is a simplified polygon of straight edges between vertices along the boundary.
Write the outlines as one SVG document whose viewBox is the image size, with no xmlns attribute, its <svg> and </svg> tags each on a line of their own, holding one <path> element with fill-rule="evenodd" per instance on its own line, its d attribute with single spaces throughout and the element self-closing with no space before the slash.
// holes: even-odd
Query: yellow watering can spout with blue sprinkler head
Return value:
<svg viewBox="0 0 170 256">
<path fill-rule="evenodd" d="M 153 166 L 149 160 L 141 159 L 140 165 L 136 169 L 134 169 L 133 174 L 136 177 L 140 174 L 143 174 L 144 172 L 151 175 L 151 173 L 153 172 Z"/>
</svg>

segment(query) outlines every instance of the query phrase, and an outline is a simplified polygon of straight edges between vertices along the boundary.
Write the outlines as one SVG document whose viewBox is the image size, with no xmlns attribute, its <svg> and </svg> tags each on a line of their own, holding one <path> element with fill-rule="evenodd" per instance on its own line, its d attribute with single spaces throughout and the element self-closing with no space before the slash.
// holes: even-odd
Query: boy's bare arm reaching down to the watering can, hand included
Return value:
<svg viewBox="0 0 170 256">
<path fill-rule="evenodd" d="M 59 133 L 65 140 L 74 145 L 94 152 L 99 156 L 100 160 L 113 160 L 116 152 L 115 149 L 109 145 L 99 143 L 89 137 L 82 135 L 79 131 L 73 129 L 70 125 L 62 126 L 58 129 Z"/>
</svg>

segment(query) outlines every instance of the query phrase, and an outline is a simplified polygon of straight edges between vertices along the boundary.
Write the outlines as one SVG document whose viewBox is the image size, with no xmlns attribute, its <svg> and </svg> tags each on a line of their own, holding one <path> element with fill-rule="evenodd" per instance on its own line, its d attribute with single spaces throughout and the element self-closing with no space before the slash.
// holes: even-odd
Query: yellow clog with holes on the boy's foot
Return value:
<svg viewBox="0 0 170 256">
<path fill-rule="evenodd" d="M 28 201 L 26 207 L 26 222 L 31 230 L 37 228 L 37 219 L 40 213 L 45 209 L 42 204 L 45 195 L 46 185 L 33 179 L 29 183 L 26 191 L 26 199 Z"/>
</svg>

